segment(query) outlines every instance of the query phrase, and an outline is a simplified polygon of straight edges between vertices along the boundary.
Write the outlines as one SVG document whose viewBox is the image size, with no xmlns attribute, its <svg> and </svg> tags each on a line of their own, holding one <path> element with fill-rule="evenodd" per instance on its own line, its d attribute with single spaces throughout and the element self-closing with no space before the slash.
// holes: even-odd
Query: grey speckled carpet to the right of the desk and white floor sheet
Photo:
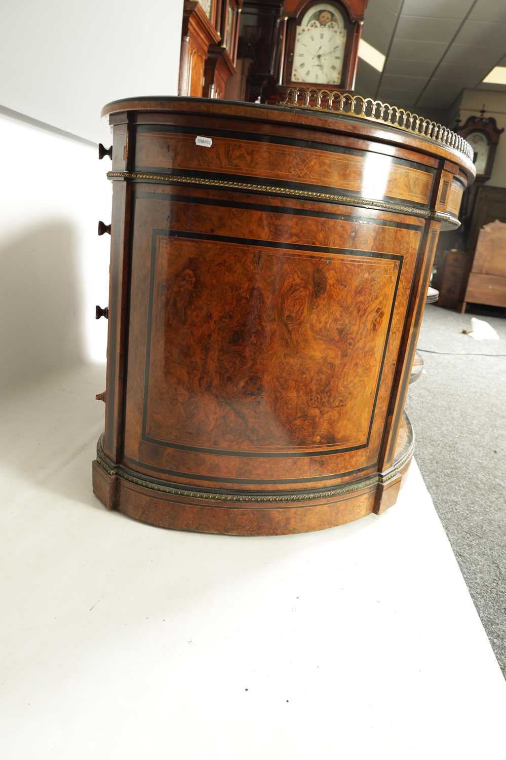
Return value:
<svg viewBox="0 0 506 760">
<path fill-rule="evenodd" d="M 501 340 L 463 335 L 471 316 Z M 506 676 L 506 319 L 427 306 L 418 347 L 443 355 L 410 386 L 416 461 Z"/>
</svg>

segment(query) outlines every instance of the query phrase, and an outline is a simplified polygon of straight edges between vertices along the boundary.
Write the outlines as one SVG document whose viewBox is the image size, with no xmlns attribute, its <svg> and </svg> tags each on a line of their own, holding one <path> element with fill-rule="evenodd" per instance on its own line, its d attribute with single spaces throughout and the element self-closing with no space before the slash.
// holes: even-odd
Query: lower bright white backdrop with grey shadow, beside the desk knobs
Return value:
<svg viewBox="0 0 506 760">
<path fill-rule="evenodd" d="M 13 146 L 0 182 L 0 381 L 105 361 L 107 321 L 94 309 L 107 305 L 110 237 L 96 226 L 110 222 L 110 161 L 94 145 L 6 116 L 0 140 Z"/>
</svg>

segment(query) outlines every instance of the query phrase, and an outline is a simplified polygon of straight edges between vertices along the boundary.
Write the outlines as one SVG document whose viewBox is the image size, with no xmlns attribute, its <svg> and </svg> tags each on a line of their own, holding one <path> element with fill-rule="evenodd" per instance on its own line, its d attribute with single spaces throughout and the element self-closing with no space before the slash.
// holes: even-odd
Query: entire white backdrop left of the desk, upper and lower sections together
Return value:
<svg viewBox="0 0 506 760">
<path fill-rule="evenodd" d="M 111 220 L 100 109 L 177 93 L 182 2 L 2 2 L 2 385 L 105 362 L 107 322 L 94 318 L 109 293 L 110 238 L 96 234 Z"/>
</svg>

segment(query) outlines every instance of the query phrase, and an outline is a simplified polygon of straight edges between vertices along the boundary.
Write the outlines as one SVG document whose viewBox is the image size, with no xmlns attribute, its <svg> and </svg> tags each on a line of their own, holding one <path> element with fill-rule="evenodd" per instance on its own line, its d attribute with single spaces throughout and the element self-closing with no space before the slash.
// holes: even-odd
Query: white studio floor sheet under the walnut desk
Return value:
<svg viewBox="0 0 506 760">
<path fill-rule="evenodd" d="M 506 684 L 415 463 L 321 533 L 150 527 L 91 490 L 104 378 L 2 406 L 4 760 L 501 756 Z"/>
</svg>

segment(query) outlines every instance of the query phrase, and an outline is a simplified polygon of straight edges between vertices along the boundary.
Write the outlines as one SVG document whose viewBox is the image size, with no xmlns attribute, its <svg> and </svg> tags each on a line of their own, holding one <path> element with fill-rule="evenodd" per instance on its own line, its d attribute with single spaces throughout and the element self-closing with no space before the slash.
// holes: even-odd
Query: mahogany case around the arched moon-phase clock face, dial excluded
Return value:
<svg viewBox="0 0 506 760">
<path fill-rule="evenodd" d="M 332 0 L 328 5 L 334 5 L 340 11 L 343 17 L 344 28 L 346 29 L 346 46 L 343 55 L 343 70 L 339 84 L 325 84 L 322 82 L 294 82 L 292 81 L 293 60 L 296 44 L 297 27 L 302 23 L 305 14 L 316 5 L 321 5 L 321 0 L 302 0 L 295 2 L 285 2 L 285 22 L 286 30 L 281 37 L 281 43 L 284 47 L 280 55 L 282 70 L 280 72 L 280 87 L 278 90 L 280 96 L 286 96 L 286 90 L 289 87 L 310 87 L 318 90 L 330 89 L 348 92 L 355 86 L 357 58 L 359 54 L 359 40 L 362 34 L 362 24 L 367 0 Z M 291 13 L 289 8 L 295 6 Z"/>
</svg>

